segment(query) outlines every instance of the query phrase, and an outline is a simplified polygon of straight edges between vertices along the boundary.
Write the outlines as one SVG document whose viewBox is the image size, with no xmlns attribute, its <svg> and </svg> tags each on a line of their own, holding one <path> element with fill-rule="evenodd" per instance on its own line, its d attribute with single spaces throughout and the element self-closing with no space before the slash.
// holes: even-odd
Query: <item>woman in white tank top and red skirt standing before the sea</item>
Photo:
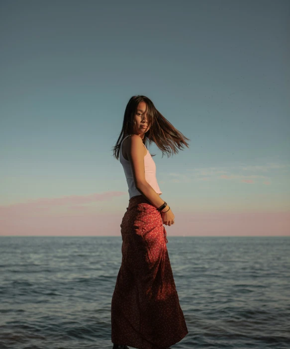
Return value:
<svg viewBox="0 0 290 349">
<path fill-rule="evenodd" d="M 146 140 L 154 142 L 164 155 L 176 154 L 177 147 L 188 147 L 189 139 L 148 97 L 137 95 L 126 106 L 121 135 L 113 148 L 129 192 L 129 205 L 120 225 L 122 263 L 111 302 L 113 349 L 168 349 L 188 334 L 163 226 L 174 224 L 175 216 L 160 197 L 152 159 L 155 155 L 148 152 Z"/>
</svg>

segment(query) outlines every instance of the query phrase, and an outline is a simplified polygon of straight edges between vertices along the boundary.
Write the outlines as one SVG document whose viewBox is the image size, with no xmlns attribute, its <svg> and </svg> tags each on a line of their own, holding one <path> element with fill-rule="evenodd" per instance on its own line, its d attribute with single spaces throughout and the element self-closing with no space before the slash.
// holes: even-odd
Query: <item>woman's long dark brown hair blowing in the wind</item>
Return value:
<svg viewBox="0 0 290 349">
<path fill-rule="evenodd" d="M 113 147 L 113 156 L 118 160 L 120 153 L 120 145 L 122 140 L 127 135 L 132 135 L 133 127 L 135 125 L 135 113 L 137 106 L 140 102 L 146 103 L 147 119 L 149 130 L 145 133 L 143 143 L 147 148 L 147 143 L 151 145 L 154 142 L 157 147 L 162 151 L 163 155 L 166 153 L 168 158 L 170 155 L 177 154 L 178 149 L 183 150 L 184 146 L 189 148 L 186 141 L 190 141 L 189 138 L 185 137 L 179 132 L 154 106 L 151 99 L 143 95 L 132 96 L 127 103 L 123 126 L 116 145 Z M 155 156 L 156 154 L 151 154 Z"/>
</svg>

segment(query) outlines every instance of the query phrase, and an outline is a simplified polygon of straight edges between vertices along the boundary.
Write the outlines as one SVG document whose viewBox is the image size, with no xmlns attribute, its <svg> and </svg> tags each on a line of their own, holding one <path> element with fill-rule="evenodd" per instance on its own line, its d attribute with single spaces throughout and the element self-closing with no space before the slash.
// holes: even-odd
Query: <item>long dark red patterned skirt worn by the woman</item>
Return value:
<svg viewBox="0 0 290 349">
<path fill-rule="evenodd" d="M 122 262 L 111 301 L 111 341 L 166 349 L 189 332 L 180 307 L 161 213 L 143 195 L 122 219 Z"/>
</svg>

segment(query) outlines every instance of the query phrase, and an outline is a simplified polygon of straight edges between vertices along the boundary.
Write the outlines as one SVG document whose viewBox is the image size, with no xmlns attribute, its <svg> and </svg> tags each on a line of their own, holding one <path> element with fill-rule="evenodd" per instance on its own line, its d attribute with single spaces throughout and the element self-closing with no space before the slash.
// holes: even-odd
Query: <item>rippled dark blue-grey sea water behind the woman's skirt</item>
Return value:
<svg viewBox="0 0 290 349">
<path fill-rule="evenodd" d="M 189 330 L 172 348 L 290 349 L 290 237 L 167 238 Z M 0 349 L 111 349 L 121 244 L 0 237 Z"/>
</svg>

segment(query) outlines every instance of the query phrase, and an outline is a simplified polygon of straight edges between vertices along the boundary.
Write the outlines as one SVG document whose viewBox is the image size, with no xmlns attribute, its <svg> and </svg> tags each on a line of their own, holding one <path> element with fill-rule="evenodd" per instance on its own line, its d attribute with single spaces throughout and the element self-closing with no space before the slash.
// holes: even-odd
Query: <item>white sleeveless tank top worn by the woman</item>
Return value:
<svg viewBox="0 0 290 349">
<path fill-rule="evenodd" d="M 127 180 L 127 184 L 128 184 L 129 200 L 130 200 L 131 197 L 136 196 L 136 195 L 142 195 L 142 193 L 135 186 L 130 162 L 128 160 L 126 160 L 122 154 L 123 141 L 127 137 L 129 137 L 129 135 L 126 136 L 121 142 L 120 163 L 123 166 L 124 173 L 126 176 L 126 180 Z M 143 146 L 145 147 L 144 143 L 143 143 Z M 145 147 L 145 149 L 147 150 L 146 147 Z M 148 152 L 148 150 L 147 150 L 147 154 L 144 156 L 144 166 L 145 166 L 146 182 L 152 186 L 152 188 L 157 192 L 157 194 L 162 194 L 162 191 L 160 190 L 159 185 L 157 183 L 157 179 L 156 179 L 156 165 L 155 165 L 154 160 L 152 159 L 152 156 Z"/>
</svg>

